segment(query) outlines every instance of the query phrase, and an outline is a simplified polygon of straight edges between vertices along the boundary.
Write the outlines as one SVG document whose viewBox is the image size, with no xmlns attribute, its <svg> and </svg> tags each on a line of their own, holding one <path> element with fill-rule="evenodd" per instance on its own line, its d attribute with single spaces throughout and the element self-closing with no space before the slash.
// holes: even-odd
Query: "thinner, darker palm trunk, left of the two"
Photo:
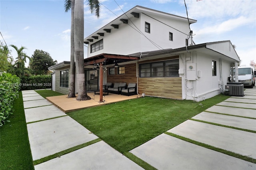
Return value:
<svg viewBox="0 0 256 170">
<path fill-rule="evenodd" d="M 71 0 L 71 31 L 70 31 L 70 80 L 68 86 L 68 98 L 75 95 L 75 49 L 74 49 L 74 7 L 75 0 Z"/>
</svg>

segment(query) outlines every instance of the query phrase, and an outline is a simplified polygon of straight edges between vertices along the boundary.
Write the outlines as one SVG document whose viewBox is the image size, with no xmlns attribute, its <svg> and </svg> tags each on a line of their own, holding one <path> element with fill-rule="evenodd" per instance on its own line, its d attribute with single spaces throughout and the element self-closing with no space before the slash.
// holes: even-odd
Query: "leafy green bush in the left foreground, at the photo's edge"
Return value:
<svg viewBox="0 0 256 170">
<path fill-rule="evenodd" d="M 13 101 L 17 98 L 20 89 L 20 78 L 10 73 L 0 72 L 0 126 L 4 125 L 12 109 Z"/>
</svg>

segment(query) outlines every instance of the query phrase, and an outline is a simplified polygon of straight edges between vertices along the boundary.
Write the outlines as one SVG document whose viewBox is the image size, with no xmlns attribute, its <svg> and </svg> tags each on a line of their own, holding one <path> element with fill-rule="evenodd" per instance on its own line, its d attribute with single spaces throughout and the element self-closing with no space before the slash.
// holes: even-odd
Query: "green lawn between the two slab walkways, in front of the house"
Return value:
<svg viewBox="0 0 256 170">
<path fill-rule="evenodd" d="M 68 115 L 125 153 L 227 98 L 229 96 L 217 95 L 194 103 L 145 97 L 82 109 Z"/>
</svg>

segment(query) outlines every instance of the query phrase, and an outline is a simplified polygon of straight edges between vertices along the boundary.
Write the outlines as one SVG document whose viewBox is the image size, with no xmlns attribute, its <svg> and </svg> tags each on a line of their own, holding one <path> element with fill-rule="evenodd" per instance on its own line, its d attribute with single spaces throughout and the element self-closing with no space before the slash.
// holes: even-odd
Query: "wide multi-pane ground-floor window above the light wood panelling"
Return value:
<svg viewBox="0 0 256 170">
<path fill-rule="evenodd" d="M 140 64 L 140 77 L 179 77 L 179 59 Z"/>
</svg>

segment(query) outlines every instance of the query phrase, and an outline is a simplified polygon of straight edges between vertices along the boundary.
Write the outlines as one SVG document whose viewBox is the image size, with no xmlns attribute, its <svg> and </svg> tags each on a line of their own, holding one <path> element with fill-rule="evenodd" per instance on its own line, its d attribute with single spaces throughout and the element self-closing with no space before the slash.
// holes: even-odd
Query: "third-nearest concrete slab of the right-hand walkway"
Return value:
<svg viewBox="0 0 256 170">
<path fill-rule="evenodd" d="M 255 114 L 256 115 L 256 114 Z M 256 131 L 256 119 L 202 112 L 192 117 L 201 121 Z"/>
</svg>

